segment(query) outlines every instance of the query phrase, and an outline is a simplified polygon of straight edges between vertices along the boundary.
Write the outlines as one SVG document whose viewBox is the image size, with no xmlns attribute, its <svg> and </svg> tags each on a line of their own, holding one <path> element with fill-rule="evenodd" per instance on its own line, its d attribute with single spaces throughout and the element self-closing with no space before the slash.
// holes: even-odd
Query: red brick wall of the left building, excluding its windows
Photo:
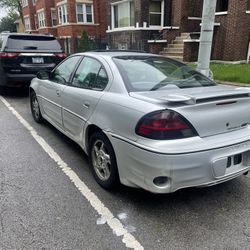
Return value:
<svg viewBox="0 0 250 250">
<path fill-rule="evenodd" d="M 35 30 L 35 14 L 37 11 L 43 9 L 45 14 L 45 27 L 38 28 L 37 32 L 42 34 L 52 34 L 58 37 L 61 44 L 64 45 L 65 39 L 68 39 L 72 43 L 69 46 L 72 47 L 71 51 L 76 52 L 77 50 L 77 39 L 81 36 L 83 30 L 88 32 L 88 35 L 92 39 L 97 39 L 102 43 L 106 42 L 106 1 L 104 0 L 93 0 L 94 8 L 94 24 L 78 24 L 76 18 L 76 0 L 68 0 L 68 23 L 58 24 L 57 26 L 52 26 L 52 16 L 51 9 L 55 9 L 58 13 L 57 4 L 61 0 L 37 0 L 36 5 L 33 6 L 32 0 L 29 0 L 29 6 L 23 8 L 24 15 L 29 15 L 31 20 L 32 29 Z M 58 18 L 58 17 L 57 17 Z"/>
</svg>

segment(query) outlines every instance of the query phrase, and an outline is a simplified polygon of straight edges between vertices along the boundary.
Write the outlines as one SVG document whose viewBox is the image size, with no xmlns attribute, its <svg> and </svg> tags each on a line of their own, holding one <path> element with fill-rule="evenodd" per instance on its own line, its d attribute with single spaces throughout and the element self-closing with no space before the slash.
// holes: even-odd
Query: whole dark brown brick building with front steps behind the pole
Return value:
<svg viewBox="0 0 250 250">
<path fill-rule="evenodd" d="M 111 48 L 197 60 L 203 0 L 107 0 Z M 217 0 L 212 59 L 246 60 L 250 0 Z"/>
</svg>

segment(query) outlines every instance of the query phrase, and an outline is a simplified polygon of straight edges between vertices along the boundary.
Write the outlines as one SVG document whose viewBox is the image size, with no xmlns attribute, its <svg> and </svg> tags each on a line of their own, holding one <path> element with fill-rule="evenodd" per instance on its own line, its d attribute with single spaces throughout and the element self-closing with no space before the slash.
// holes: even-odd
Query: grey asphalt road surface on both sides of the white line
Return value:
<svg viewBox="0 0 250 250">
<path fill-rule="evenodd" d="M 27 94 L 4 96 L 122 223 L 141 249 L 250 250 L 250 177 L 155 195 L 93 180 L 83 151 L 48 123 Z M 0 249 L 128 249 L 93 204 L 0 100 Z M 140 249 L 138 248 L 138 249 Z"/>
</svg>

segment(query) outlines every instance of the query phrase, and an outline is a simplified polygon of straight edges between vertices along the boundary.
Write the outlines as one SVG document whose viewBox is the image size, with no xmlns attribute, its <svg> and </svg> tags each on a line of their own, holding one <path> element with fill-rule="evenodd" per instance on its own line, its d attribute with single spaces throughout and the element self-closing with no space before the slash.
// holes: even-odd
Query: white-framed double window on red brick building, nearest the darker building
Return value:
<svg viewBox="0 0 250 250">
<path fill-rule="evenodd" d="M 78 23 L 93 23 L 93 5 L 76 4 L 76 17 Z"/>
</svg>

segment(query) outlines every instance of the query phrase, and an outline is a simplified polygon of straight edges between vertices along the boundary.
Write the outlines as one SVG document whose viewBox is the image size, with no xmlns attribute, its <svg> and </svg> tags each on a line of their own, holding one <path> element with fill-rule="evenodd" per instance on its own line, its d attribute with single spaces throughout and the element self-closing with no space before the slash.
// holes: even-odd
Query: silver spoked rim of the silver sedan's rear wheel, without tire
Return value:
<svg viewBox="0 0 250 250">
<path fill-rule="evenodd" d="M 105 143 L 101 140 L 97 140 L 91 152 L 92 162 L 94 170 L 99 179 L 106 181 L 109 179 L 111 174 L 111 161 L 108 150 Z"/>
</svg>

